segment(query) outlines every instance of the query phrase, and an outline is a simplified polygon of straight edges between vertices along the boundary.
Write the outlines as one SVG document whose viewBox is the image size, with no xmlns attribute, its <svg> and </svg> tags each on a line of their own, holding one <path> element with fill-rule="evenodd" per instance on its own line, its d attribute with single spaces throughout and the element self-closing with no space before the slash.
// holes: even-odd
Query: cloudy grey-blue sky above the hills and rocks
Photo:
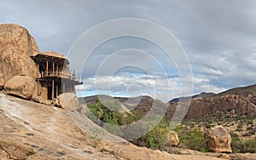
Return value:
<svg viewBox="0 0 256 160">
<path fill-rule="evenodd" d="M 183 67 L 173 54 L 148 39 L 115 37 L 84 53 L 96 37 L 118 27 L 95 32 L 84 48 L 69 54 L 86 31 L 124 18 L 149 20 L 171 32 L 189 62 L 193 86 L 186 85 L 191 75 L 181 75 Z M 256 79 L 254 0 L 0 0 L 0 22 L 25 26 L 40 51 L 66 55 L 84 82 L 77 87 L 79 96 L 143 94 L 168 101 L 180 96 L 181 89 L 219 93 Z M 141 32 L 154 35 L 149 26 L 144 28 Z M 86 60 L 81 58 L 85 54 L 90 54 Z"/>
</svg>

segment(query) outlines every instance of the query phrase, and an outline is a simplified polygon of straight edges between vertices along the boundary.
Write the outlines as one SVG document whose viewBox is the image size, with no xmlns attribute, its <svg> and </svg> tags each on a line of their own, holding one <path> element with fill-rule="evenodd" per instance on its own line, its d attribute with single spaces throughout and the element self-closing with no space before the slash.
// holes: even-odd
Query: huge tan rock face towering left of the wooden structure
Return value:
<svg viewBox="0 0 256 160">
<path fill-rule="evenodd" d="M 30 56 L 39 50 L 26 28 L 14 24 L 0 25 L 0 46 L 0 88 L 16 75 L 38 77 L 38 68 Z"/>
</svg>

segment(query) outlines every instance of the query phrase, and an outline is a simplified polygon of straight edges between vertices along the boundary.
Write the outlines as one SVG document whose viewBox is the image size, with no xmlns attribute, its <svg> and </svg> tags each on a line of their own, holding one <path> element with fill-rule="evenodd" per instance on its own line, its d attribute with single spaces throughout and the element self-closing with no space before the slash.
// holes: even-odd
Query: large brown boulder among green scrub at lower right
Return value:
<svg viewBox="0 0 256 160">
<path fill-rule="evenodd" d="M 230 133 L 223 126 L 207 129 L 205 134 L 207 149 L 212 152 L 232 152 Z"/>
</svg>

